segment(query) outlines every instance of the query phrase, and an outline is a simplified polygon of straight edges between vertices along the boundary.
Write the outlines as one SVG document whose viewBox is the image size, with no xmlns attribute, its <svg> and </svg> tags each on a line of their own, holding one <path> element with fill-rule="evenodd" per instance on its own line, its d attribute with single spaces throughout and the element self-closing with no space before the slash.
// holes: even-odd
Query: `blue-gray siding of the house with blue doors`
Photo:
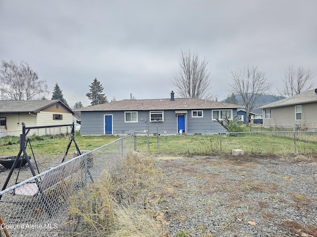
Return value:
<svg viewBox="0 0 317 237">
<path fill-rule="evenodd" d="M 211 120 L 211 109 L 204 110 L 203 118 L 192 118 L 192 111 L 185 114 L 187 133 L 218 133 L 225 129 L 216 121 Z M 233 110 L 233 115 L 236 115 Z M 112 115 L 113 134 L 127 134 L 134 131 L 148 131 L 150 134 L 177 133 L 177 116 L 174 110 L 164 111 L 164 121 L 149 121 L 150 111 L 138 111 L 138 122 L 124 122 L 124 111 L 82 111 L 81 134 L 103 135 L 105 133 L 104 117 Z"/>
</svg>

